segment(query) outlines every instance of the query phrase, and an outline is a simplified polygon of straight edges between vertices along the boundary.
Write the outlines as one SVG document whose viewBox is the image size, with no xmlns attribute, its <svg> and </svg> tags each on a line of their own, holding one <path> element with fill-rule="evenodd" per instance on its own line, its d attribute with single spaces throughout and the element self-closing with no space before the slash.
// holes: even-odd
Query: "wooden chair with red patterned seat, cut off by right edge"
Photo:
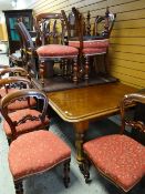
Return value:
<svg viewBox="0 0 145 194">
<path fill-rule="evenodd" d="M 125 126 L 145 132 L 145 124 L 126 115 L 126 106 L 145 104 L 144 94 L 127 94 L 121 102 L 121 134 L 112 134 L 91 140 L 83 144 L 85 153 L 84 177 L 89 181 L 87 160 L 91 160 L 103 176 L 124 192 L 133 188 L 145 175 L 145 147 L 123 134 Z"/>
</svg>

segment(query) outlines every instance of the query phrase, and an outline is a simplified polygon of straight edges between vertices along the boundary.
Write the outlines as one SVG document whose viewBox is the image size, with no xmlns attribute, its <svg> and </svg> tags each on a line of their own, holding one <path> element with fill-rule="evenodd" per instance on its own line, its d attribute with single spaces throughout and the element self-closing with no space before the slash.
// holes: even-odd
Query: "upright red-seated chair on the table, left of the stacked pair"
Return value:
<svg viewBox="0 0 145 194">
<path fill-rule="evenodd" d="M 66 63 L 73 63 L 71 80 L 77 83 L 77 54 L 79 50 L 73 47 L 64 45 L 65 27 L 61 13 L 42 13 L 37 17 L 40 28 L 42 47 L 38 48 L 37 53 L 40 61 L 40 75 L 44 85 L 44 68 L 48 61 L 59 61 L 62 68 L 62 75 Z"/>
</svg>

